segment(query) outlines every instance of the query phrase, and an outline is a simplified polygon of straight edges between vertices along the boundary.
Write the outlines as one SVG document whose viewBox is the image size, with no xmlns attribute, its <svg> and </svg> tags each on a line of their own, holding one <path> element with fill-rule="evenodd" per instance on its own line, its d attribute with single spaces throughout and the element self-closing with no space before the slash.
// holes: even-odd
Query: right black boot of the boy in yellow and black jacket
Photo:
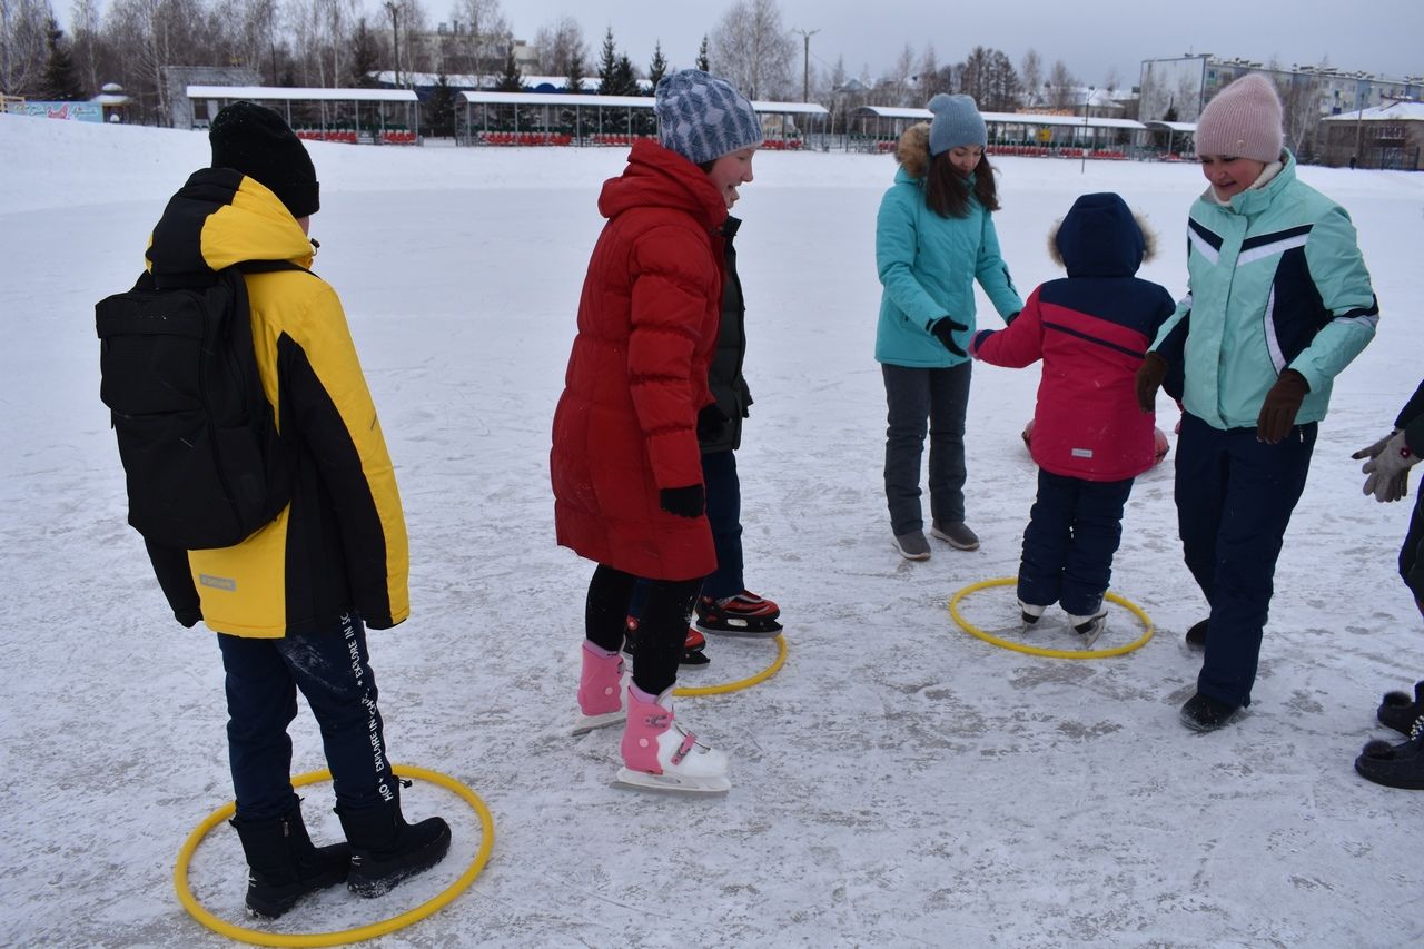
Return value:
<svg viewBox="0 0 1424 949">
<path fill-rule="evenodd" d="M 336 816 L 352 845 L 346 886 L 357 896 L 384 896 L 400 881 L 439 864 L 450 849 L 450 825 L 440 818 L 406 824 L 399 792 L 370 808 L 337 807 Z"/>
</svg>

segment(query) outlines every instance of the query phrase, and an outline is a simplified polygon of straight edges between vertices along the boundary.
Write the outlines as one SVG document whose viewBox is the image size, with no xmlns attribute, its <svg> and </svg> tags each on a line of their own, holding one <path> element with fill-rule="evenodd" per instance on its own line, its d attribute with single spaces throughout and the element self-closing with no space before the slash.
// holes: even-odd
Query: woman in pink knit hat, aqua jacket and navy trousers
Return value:
<svg viewBox="0 0 1424 949">
<path fill-rule="evenodd" d="M 1189 292 L 1138 372 L 1149 412 L 1168 370 L 1182 370 L 1178 529 L 1210 604 L 1186 634 L 1206 650 L 1182 707 L 1195 731 L 1250 704 L 1276 559 L 1331 383 L 1378 322 L 1350 215 L 1296 178 L 1280 120 L 1276 90 L 1257 74 L 1198 120 L 1210 187 L 1188 221 Z"/>
</svg>

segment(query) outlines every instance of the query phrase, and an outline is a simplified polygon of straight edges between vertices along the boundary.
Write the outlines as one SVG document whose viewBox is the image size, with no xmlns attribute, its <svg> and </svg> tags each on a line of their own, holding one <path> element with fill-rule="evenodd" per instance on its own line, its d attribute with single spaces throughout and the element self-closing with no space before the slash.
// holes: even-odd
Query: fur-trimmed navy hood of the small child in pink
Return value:
<svg viewBox="0 0 1424 949">
<path fill-rule="evenodd" d="M 1048 255 L 1068 276 L 1132 276 L 1156 252 L 1156 235 L 1112 192 L 1085 194 L 1048 232 Z"/>
</svg>

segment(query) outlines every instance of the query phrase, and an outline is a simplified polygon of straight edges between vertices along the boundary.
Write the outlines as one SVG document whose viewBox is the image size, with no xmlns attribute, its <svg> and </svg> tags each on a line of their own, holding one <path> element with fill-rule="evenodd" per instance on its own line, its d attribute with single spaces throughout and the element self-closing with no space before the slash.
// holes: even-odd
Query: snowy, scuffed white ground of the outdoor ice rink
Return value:
<svg viewBox="0 0 1424 949">
<path fill-rule="evenodd" d="M 590 564 L 554 544 L 548 432 L 594 201 L 622 150 L 313 144 L 316 269 L 340 292 L 382 408 L 412 533 L 414 614 L 372 636 L 397 762 L 467 782 L 496 821 L 468 892 L 383 946 L 1400 946 L 1424 865 L 1415 794 L 1360 779 L 1381 691 L 1424 674 L 1394 574 L 1405 504 L 1360 494 L 1351 450 L 1418 382 L 1424 175 L 1304 168 L 1360 228 L 1380 338 L 1341 378 L 1277 573 L 1256 704 L 1229 730 L 1176 710 L 1203 603 L 1180 563 L 1171 465 L 1128 509 L 1114 590 L 1158 634 L 1111 660 L 1035 658 L 956 628 L 946 601 L 1011 576 L 1034 494 L 1018 440 L 1035 370 L 975 369 L 970 523 L 984 543 L 890 549 L 884 395 L 871 359 L 873 225 L 889 157 L 758 157 L 738 238 L 756 406 L 739 466 L 748 581 L 782 603 L 786 667 L 679 717 L 733 762 L 725 799 L 609 788 L 617 730 L 571 738 Z M 93 304 L 137 275 L 202 135 L 0 115 L 0 943 L 219 946 L 172 892 L 187 834 L 231 798 L 212 637 L 168 616 L 98 400 Z M 998 228 L 1027 294 L 1044 237 L 1115 190 L 1162 234 L 1143 275 L 1182 291 L 1189 164 L 1000 162 Z M 981 305 L 985 325 L 997 325 Z M 1162 400 L 1163 427 L 1175 410 Z M 985 626 L 1008 591 L 965 607 Z M 1101 645 L 1139 634 L 1115 610 Z M 1035 633 L 1067 645 L 1067 633 Z M 685 684 L 742 678 L 766 643 L 713 640 Z M 322 767 L 308 714 L 295 768 Z M 407 812 L 456 828 L 450 858 L 393 895 L 332 891 L 269 926 L 357 926 L 450 885 L 478 824 L 417 784 Z M 306 794 L 336 834 L 329 785 Z M 235 835 L 198 896 L 241 916 Z"/>
</svg>

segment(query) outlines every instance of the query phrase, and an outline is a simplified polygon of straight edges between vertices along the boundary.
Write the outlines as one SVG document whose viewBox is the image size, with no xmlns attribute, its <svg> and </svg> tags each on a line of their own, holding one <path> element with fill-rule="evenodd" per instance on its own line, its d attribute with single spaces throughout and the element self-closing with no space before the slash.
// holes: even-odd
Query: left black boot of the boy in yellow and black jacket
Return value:
<svg viewBox="0 0 1424 949">
<path fill-rule="evenodd" d="M 345 844 L 312 846 L 302 802 L 279 818 L 232 821 L 248 858 L 248 912 L 276 919 L 302 896 L 346 879 L 352 851 Z"/>
</svg>

